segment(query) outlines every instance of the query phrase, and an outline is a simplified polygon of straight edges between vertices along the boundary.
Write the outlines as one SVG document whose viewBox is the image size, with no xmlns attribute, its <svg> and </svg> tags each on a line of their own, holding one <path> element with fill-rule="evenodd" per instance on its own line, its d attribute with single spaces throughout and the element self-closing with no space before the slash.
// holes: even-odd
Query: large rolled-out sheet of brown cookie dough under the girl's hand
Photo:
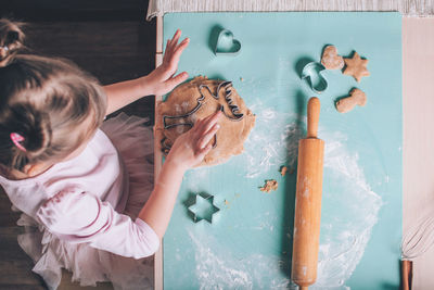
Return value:
<svg viewBox="0 0 434 290">
<path fill-rule="evenodd" d="M 199 165 L 216 165 L 243 152 L 243 143 L 255 125 L 255 115 L 232 87 L 231 81 L 207 79 L 199 76 L 178 86 L 157 106 L 162 117 L 162 151 L 167 154 L 175 140 L 192 128 L 197 118 L 203 119 L 218 110 L 220 129 L 212 140 L 214 148 Z M 158 126 L 158 125 L 157 125 Z"/>
</svg>

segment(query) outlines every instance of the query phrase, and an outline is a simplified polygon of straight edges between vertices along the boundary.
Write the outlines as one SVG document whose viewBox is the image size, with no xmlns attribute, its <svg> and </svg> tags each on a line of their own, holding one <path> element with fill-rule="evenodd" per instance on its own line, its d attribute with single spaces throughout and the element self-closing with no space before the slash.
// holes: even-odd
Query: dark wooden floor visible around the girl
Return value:
<svg viewBox="0 0 434 290">
<path fill-rule="evenodd" d="M 26 45 L 33 53 L 67 58 L 104 85 L 153 70 L 155 22 L 145 21 L 146 9 L 148 1 L 141 0 L 0 0 L 0 16 L 26 23 Z M 154 99 L 143 98 L 122 111 L 153 123 Z M 10 207 L 0 192 L 0 289 L 46 289 L 16 242 L 18 214 Z M 63 280 L 60 289 L 76 288 Z"/>
</svg>

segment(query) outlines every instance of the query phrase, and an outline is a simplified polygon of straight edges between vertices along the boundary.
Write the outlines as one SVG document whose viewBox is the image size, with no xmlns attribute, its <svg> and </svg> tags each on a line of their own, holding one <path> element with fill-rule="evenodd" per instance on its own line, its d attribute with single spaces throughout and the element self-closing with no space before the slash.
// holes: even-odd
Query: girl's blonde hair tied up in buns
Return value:
<svg viewBox="0 0 434 290">
<path fill-rule="evenodd" d="M 0 20 L 0 164 L 18 171 L 67 156 L 106 112 L 95 78 L 65 60 L 17 54 L 23 39 L 18 24 Z M 23 137 L 22 148 L 11 134 Z"/>
</svg>

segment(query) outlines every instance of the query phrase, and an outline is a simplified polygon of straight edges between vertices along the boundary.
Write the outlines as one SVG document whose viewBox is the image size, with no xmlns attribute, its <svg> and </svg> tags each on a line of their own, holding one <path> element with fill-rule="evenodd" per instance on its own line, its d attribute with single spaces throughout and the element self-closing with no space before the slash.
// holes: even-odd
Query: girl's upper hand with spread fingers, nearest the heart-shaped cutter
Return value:
<svg viewBox="0 0 434 290">
<path fill-rule="evenodd" d="M 186 38 L 178 43 L 180 37 L 181 30 L 178 29 L 174 37 L 167 40 L 162 65 L 146 76 L 146 81 L 149 81 L 149 85 L 153 88 L 152 94 L 166 94 L 189 77 L 186 72 L 175 75 L 178 70 L 178 63 L 182 51 L 190 42 L 190 39 Z"/>
</svg>

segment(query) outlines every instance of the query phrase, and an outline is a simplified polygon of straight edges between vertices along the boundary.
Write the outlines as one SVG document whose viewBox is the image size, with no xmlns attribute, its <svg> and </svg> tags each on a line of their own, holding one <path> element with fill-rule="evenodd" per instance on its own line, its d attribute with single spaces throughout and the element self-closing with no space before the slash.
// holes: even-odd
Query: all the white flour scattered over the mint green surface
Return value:
<svg viewBox="0 0 434 290">
<path fill-rule="evenodd" d="M 257 123 L 244 143 L 242 162 L 247 171 L 245 177 L 255 178 L 282 164 L 295 167 L 298 140 L 304 138 L 306 119 L 294 119 L 294 115 L 278 113 L 261 108 Z M 264 135 L 264 131 L 281 134 Z M 360 262 L 373 226 L 378 222 L 383 204 L 381 197 L 373 192 L 359 165 L 359 156 L 346 147 L 342 133 L 329 133 L 319 128 L 326 141 L 323 202 L 321 216 L 321 240 L 317 282 L 309 289 L 349 289 L 345 281 Z M 275 137 L 273 137 L 275 136 Z M 206 169 L 195 171 L 206 176 Z M 194 187 L 194 185 L 193 185 Z M 305 192 L 308 194 L 308 192 Z M 327 200 L 327 202 L 324 202 Z M 271 222 L 271 220 L 270 220 Z M 259 224 L 257 229 L 272 231 L 270 224 Z M 256 228 L 255 228 L 256 229 Z M 253 254 L 242 261 L 224 249 L 217 239 L 203 234 L 190 237 L 195 245 L 196 276 L 201 289 L 292 289 L 281 272 L 280 256 Z M 264 285 L 270 277 L 280 277 L 271 285 Z"/>
</svg>

